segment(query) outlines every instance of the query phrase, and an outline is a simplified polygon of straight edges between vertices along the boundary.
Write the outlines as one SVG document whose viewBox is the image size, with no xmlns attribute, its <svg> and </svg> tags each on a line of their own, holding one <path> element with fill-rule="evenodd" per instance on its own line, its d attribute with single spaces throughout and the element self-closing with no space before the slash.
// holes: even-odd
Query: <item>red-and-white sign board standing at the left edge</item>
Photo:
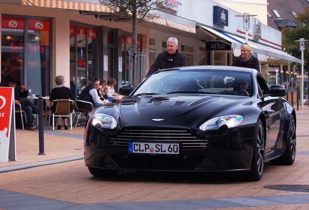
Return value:
<svg viewBox="0 0 309 210">
<path fill-rule="evenodd" d="M 15 129 L 11 127 L 13 105 L 14 89 L 0 87 L 0 162 L 7 162 L 9 157 L 11 129 Z"/>
</svg>

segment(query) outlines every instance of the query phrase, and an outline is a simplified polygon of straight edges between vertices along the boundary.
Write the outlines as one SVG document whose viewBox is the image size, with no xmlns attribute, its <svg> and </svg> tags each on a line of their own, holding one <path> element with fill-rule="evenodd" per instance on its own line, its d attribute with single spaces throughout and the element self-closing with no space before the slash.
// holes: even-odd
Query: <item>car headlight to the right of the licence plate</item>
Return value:
<svg viewBox="0 0 309 210">
<path fill-rule="evenodd" d="M 200 126 L 201 130 L 214 130 L 218 129 L 222 125 L 227 125 L 228 128 L 235 127 L 239 125 L 243 121 L 243 117 L 241 115 L 225 115 L 221 117 L 215 117 L 211 120 L 203 123 Z"/>
</svg>

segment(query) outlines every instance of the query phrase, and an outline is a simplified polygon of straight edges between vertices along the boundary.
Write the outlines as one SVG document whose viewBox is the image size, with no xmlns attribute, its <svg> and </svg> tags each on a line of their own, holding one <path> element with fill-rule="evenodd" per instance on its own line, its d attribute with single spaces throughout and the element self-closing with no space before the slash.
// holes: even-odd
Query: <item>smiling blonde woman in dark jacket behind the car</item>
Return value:
<svg viewBox="0 0 309 210">
<path fill-rule="evenodd" d="M 259 72 L 259 63 L 257 58 L 252 53 L 252 47 L 249 43 L 245 42 L 241 45 L 240 56 L 234 60 L 232 66 L 245 67 L 256 69 Z"/>
</svg>

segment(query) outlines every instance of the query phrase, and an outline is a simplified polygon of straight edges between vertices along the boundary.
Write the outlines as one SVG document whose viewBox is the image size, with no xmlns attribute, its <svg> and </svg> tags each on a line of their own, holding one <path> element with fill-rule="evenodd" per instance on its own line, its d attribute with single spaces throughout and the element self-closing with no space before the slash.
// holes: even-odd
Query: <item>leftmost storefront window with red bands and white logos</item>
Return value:
<svg viewBox="0 0 309 210">
<path fill-rule="evenodd" d="M 33 94 L 49 95 L 51 22 L 3 17 L 1 23 L 1 82 L 7 86 L 5 78 L 14 76 Z"/>
</svg>

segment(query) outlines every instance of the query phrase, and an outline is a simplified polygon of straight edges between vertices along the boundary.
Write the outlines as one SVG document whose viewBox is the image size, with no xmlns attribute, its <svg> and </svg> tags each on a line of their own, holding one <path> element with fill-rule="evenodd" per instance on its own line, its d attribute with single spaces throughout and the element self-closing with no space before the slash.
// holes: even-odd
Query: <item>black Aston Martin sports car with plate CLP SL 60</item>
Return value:
<svg viewBox="0 0 309 210">
<path fill-rule="evenodd" d="M 237 171 L 259 180 L 264 162 L 295 160 L 295 110 L 285 88 L 268 86 L 257 70 L 160 70 L 119 92 L 128 96 L 88 116 L 84 152 L 92 175 Z"/>
</svg>

